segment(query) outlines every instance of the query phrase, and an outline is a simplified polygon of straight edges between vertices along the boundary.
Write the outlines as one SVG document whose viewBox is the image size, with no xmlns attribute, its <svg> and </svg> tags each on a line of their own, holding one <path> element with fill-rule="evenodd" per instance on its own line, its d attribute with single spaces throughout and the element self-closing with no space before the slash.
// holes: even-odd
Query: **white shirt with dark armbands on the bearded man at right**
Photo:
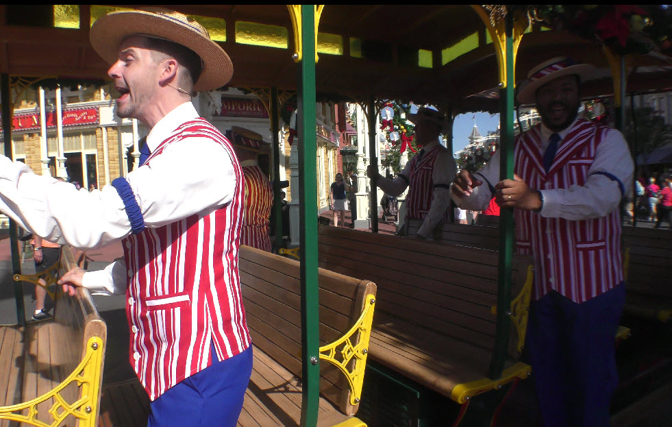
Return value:
<svg viewBox="0 0 672 427">
<path fill-rule="evenodd" d="M 564 140 L 575 123 L 576 120 L 569 127 L 557 132 L 560 138 Z M 542 154 L 548 147 L 549 138 L 553 133 L 556 132 L 549 130 L 543 123 L 541 124 L 542 143 L 540 143 L 539 149 Z M 499 182 L 499 157 L 499 150 L 497 150 L 493 158 L 480 171 L 477 171 L 493 186 Z M 540 215 L 580 220 L 603 217 L 616 209 L 622 197 L 619 183 L 610 180 L 605 175 L 595 174 L 598 171 L 610 173 L 618 178 L 625 186 L 626 193 L 632 187 L 634 164 L 632 156 L 630 156 L 630 149 L 627 147 L 621 132 L 612 129 L 607 133 L 606 138 L 601 141 L 595 153 L 595 160 L 588 169 L 588 175 L 590 176 L 583 186 L 573 185 L 569 188 L 552 190 L 540 189 L 544 198 Z M 475 175 L 475 178 L 482 180 L 478 175 Z M 484 210 L 494 196 L 493 193 L 490 193 L 486 182 L 474 188 L 469 197 L 460 199 L 451 193 L 451 197 L 460 208 L 472 210 Z"/>
</svg>

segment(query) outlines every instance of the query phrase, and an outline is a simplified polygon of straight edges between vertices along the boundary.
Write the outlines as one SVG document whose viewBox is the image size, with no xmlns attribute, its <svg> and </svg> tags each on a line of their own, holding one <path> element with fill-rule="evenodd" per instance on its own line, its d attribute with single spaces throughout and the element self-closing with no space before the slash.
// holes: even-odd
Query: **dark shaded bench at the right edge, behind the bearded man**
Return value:
<svg viewBox="0 0 672 427">
<path fill-rule="evenodd" d="M 623 227 L 629 258 L 625 312 L 667 322 L 672 319 L 672 230 Z"/>
</svg>

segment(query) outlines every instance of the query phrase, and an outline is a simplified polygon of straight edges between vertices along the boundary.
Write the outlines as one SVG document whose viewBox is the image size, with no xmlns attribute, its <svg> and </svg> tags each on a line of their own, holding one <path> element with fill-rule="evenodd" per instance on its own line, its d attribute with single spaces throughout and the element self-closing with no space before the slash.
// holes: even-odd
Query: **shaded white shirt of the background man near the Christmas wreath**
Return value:
<svg viewBox="0 0 672 427">
<path fill-rule="evenodd" d="M 432 151 L 436 145 L 439 145 L 438 139 L 432 141 L 431 143 L 425 145 L 423 150 L 425 153 Z M 411 162 L 406 163 L 406 167 L 401 171 L 401 175 L 410 177 L 410 166 Z M 443 151 L 436 156 L 436 161 L 434 162 L 434 169 L 432 169 L 432 181 L 434 185 L 436 184 L 445 184 L 450 186 L 451 182 L 455 178 L 455 173 L 457 170 L 456 162 L 453 156 L 448 151 Z M 377 186 L 380 187 L 385 193 L 397 197 L 408 187 L 408 183 L 401 177 L 397 177 L 394 180 L 381 177 L 377 180 Z M 425 215 L 425 220 L 423 225 L 418 230 L 418 234 L 428 237 L 432 235 L 432 231 L 436 228 L 436 225 L 441 221 L 443 215 L 445 214 L 448 206 L 450 205 L 450 190 L 449 188 L 443 187 L 434 187 L 432 192 L 432 205 L 430 211 Z"/>
</svg>

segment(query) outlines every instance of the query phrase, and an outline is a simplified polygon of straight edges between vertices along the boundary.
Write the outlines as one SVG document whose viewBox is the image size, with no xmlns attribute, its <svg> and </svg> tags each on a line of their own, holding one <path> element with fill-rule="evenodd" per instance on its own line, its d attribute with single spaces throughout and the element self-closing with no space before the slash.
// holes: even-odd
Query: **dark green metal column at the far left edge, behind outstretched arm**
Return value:
<svg viewBox="0 0 672 427">
<path fill-rule="evenodd" d="M 0 76 L 0 96 L 2 103 L 2 130 L 5 142 L 5 156 L 12 158 L 12 97 L 10 96 L 10 76 Z M 10 245 L 12 246 L 12 276 L 21 274 L 21 256 L 18 254 L 18 228 L 10 219 Z M 16 318 L 18 324 L 25 325 L 25 307 L 23 306 L 23 283 L 14 282 L 16 298 Z"/>
</svg>

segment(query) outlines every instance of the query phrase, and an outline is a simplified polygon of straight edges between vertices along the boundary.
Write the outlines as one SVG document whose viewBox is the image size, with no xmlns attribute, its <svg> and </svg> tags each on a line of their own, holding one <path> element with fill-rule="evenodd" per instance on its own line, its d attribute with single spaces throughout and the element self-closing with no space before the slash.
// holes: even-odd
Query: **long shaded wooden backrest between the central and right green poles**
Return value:
<svg viewBox="0 0 672 427">
<path fill-rule="evenodd" d="M 376 282 L 374 329 L 399 318 L 491 352 L 497 264 L 492 250 L 319 227 L 321 267 Z M 530 265 L 530 257 L 513 257 L 512 296 L 521 291 Z M 515 346 L 509 347 L 510 357 L 517 358 Z"/>
</svg>

